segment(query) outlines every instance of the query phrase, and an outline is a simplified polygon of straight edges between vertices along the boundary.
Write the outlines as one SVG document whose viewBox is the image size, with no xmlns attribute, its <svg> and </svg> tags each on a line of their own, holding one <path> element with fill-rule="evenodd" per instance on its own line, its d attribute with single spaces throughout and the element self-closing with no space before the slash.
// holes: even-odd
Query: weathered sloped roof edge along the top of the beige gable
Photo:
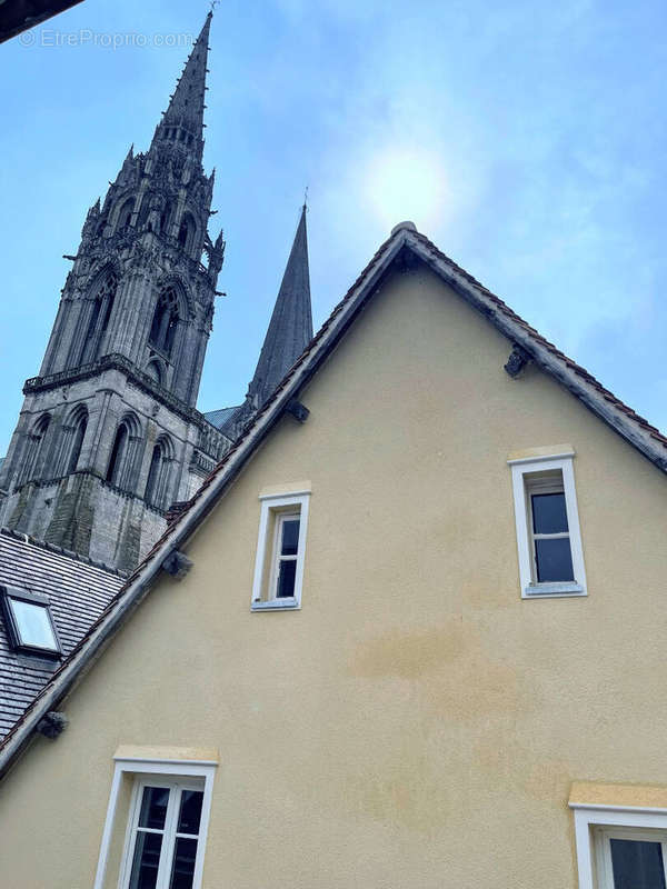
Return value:
<svg viewBox="0 0 667 889">
<path fill-rule="evenodd" d="M 504 333 L 510 343 L 525 349 L 536 364 L 555 377 L 594 413 L 659 469 L 667 472 L 667 439 L 655 427 L 605 389 L 584 368 L 556 349 L 512 312 L 502 300 L 440 252 L 428 238 L 410 228 L 398 227 L 378 249 L 346 297 L 336 306 L 271 398 L 246 427 L 236 444 L 205 479 L 192 497 L 189 508 L 183 510 L 157 541 L 116 599 L 7 736 L 0 747 L 0 776 L 11 767 L 30 741 L 39 720 L 72 690 L 83 671 L 100 656 L 116 631 L 140 605 L 167 556 L 188 540 L 213 508 L 258 444 L 282 416 L 287 403 L 298 394 L 321 361 L 330 353 L 404 249 L 408 249 L 427 263 Z"/>
</svg>

